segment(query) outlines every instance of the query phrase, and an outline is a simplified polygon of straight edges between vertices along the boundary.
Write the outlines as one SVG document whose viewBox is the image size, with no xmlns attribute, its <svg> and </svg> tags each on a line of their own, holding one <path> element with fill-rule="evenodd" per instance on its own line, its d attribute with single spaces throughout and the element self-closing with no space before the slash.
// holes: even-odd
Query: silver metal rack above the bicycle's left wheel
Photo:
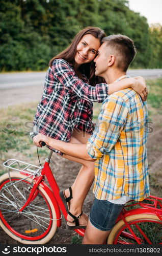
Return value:
<svg viewBox="0 0 162 256">
<path fill-rule="evenodd" d="M 18 172 L 27 173 L 31 176 L 39 176 L 40 170 L 43 168 L 43 166 L 37 166 L 17 159 L 8 159 L 3 163 L 3 166 L 8 168 L 8 173 L 10 170 L 17 170 Z"/>
</svg>

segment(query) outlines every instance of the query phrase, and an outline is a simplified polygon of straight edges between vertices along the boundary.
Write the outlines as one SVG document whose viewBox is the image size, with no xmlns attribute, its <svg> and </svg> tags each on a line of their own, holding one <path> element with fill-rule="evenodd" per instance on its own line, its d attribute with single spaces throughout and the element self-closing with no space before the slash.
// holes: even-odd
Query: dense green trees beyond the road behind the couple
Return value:
<svg viewBox="0 0 162 256">
<path fill-rule="evenodd" d="M 126 0 L 2 0 L 0 69 L 44 70 L 87 26 L 126 34 L 138 49 L 133 68 L 162 67 L 162 29 L 128 8 Z"/>
</svg>

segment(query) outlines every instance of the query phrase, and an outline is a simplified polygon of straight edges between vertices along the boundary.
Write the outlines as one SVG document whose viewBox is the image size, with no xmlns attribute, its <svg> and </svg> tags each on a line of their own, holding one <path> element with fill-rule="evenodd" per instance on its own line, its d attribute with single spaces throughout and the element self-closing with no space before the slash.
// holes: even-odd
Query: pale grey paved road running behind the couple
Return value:
<svg viewBox="0 0 162 256">
<path fill-rule="evenodd" d="M 39 101 L 46 72 L 17 72 L 0 74 L 0 108 Z M 128 70 L 130 76 L 162 77 L 162 69 Z"/>
</svg>

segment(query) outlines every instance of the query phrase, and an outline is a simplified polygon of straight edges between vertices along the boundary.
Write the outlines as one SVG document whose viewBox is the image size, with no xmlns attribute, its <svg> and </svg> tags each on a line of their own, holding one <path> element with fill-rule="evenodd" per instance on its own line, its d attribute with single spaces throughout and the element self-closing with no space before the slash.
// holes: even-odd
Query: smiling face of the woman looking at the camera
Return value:
<svg viewBox="0 0 162 256">
<path fill-rule="evenodd" d="M 74 60 L 77 66 L 91 62 L 96 57 L 100 45 L 98 38 L 91 34 L 84 35 L 76 47 Z"/>
</svg>

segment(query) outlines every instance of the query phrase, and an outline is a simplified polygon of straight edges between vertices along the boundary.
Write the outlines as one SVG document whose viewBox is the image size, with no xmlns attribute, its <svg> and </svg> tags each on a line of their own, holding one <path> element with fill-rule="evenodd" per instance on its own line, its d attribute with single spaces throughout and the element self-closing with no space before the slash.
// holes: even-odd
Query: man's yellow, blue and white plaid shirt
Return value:
<svg viewBox="0 0 162 256">
<path fill-rule="evenodd" d="M 147 102 L 131 88 L 102 103 L 98 123 L 87 143 L 95 161 L 93 193 L 100 200 L 150 195 L 147 163 Z"/>
</svg>

